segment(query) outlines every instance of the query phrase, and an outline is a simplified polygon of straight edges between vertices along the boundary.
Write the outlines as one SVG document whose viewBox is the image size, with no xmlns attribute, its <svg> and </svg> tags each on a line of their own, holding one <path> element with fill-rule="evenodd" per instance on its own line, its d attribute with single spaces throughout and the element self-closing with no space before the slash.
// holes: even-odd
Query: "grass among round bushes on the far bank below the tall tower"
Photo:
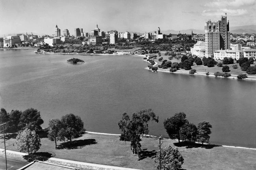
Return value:
<svg viewBox="0 0 256 170">
<path fill-rule="evenodd" d="M 168 59 L 168 55 L 164 55 L 165 52 L 161 52 L 161 57 L 163 57 L 163 60 L 167 60 L 167 61 L 171 61 L 172 63 L 174 62 L 177 62 L 177 63 L 180 63 L 181 62 L 181 59 L 179 60 L 176 60 L 176 59 L 172 59 L 172 60 L 169 60 Z M 162 64 L 162 61 L 159 62 L 158 61 L 158 58 L 160 58 L 159 56 L 157 57 L 157 59 L 155 59 L 154 61 L 156 61 L 158 64 L 157 65 L 161 65 Z M 222 61 L 218 61 L 218 62 L 222 62 Z M 232 66 L 233 65 L 237 65 L 238 68 L 237 69 L 233 69 Z M 255 65 L 255 62 L 254 64 L 251 64 L 251 66 L 254 66 Z M 223 65 L 225 66 L 225 65 Z M 240 73 L 245 73 L 246 74 L 246 71 L 242 71 L 239 64 L 236 63 L 236 61 L 234 61 L 234 64 L 227 64 L 227 66 L 229 67 L 229 70 L 230 70 L 230 74 L 240 74 Z M 197 66 L 196 63 L 194 63 L 193 66 L 191 66 L 192 69 L 196 69 L 197 72 L 210 72 L 210 73 L 215 73 L 215 72 L 222 72 L 222 67 L 218 67 L 218 66 L 214 66 L 214 67 L 207 67 L 207 66 L 204 66 L 204 65 L 200 65 L 200 66 Z M 184 70 L 184 69 L 180 69 L 180 70 Z M 248 74 L 249 75 L 249 74 Z M 256 76 L 256 75 L 249 75 L 249 76 Z"/>
</svg>

